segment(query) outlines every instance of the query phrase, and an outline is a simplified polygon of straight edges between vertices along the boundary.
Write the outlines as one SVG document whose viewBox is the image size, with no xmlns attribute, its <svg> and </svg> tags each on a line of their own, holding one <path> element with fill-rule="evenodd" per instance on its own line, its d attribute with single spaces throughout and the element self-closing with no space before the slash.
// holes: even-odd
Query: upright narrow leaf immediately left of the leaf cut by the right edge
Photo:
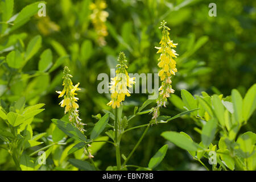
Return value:
<svg viewBox="0 0 256 182">
<path fill-rule="evenodd" d="M 243 98 L 241 94 L 236 90 L 232 90 L 232 102 L 234 107 L 234 115 L 236 121 L 239 123 L 243 122 Z"/>
</svg>

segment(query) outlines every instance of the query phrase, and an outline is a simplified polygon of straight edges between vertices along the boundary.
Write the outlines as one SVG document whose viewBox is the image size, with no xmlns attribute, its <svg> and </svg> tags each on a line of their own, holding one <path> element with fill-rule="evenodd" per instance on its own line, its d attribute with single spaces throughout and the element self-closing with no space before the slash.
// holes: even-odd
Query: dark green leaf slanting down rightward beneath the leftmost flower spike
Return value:
<svg viewBox="0 0 256 182">
<path fill-rule="evenodd" d="M 84 134 L 79 131 L 75 126 L 73 126 L 69 122 L 61 121 L 60 119 L 52 119 L 52 122 L 59 127 L 66 135 L 72 137 L 76 140 L 80 140 L 81 142 L 86 142 L 86 137 Z"/>
</svg>

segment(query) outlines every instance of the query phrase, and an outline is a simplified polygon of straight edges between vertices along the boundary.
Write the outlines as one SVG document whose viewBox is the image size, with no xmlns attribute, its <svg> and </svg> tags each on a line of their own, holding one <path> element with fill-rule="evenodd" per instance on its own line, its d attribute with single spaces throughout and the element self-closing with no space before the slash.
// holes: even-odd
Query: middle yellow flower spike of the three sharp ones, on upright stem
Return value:
<svg viewBox="0 0 256 182">
<path fill-rule="evenodd" d="M 112 106 L 113 109 L 120 106 L 121 102 L 125 100 L 125 96 L 130 96 L 127 86 L 131 87 L 133 84 L 135 84 L 135 77 L 130 78 L 126 71 L 126 68 L 128 67 L 126 65 L 127 60 L 125 53 L 119 53 L 118 62 L 119 64 L 117 64 L 117 71 L 115 71 L 117 75 L 114 78 L 111 78 L 109 86 L 109 90 L 112 93 L 111 101 L 107 104 Z"/>
</svg>

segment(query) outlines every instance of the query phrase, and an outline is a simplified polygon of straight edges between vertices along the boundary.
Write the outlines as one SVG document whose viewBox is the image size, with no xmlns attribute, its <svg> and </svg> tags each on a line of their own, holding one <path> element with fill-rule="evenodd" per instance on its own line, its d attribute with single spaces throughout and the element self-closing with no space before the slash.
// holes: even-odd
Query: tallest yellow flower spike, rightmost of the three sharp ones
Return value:
<svg viewBox="0 0 256 182">
<path fill-rule="evenodd" d="M 162 106 L 166 107 L 167 98 L 170 97 L 171 93 L 174 93 L 174 89 L 172 89 L 171 85 L 171 77 L 177 72 L 176 61 L 174 60 L 177 53 L 172 48 L 175 48 L 177 44 L 173 43 L 170 39 L 170 28 L 166 26 L 166 23 L 167 22 L 164 22 L 164 20 L 161 22 L 159 29 L 162 29 L 162 39 L 159 43 L 160 47 L 155 47 L 158 49 L 158 52 L 156 53 L 161 53 L 158 59 L 158 67 L 160 68 L 158 76 L 160 77 L 162 84 L 159 88 L 160 93 L 156 100 L 157 106 L 154 107 L 152 119 L 158 118 L 159 108 Z"/>
</svg>

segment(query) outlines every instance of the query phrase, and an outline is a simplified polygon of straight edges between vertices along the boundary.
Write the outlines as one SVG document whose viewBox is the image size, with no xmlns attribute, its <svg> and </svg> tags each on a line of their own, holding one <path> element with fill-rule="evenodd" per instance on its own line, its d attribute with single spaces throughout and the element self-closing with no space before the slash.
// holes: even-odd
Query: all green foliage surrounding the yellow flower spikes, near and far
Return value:
<svg viewBox="0 0 256 182">
<path fill-rule="evenodd" d="M 105 46 L 92 2 L 0 1 L 0 169 L 255 170 L 255 1 L 218 2 L 217 17 L 210 1 L 106 1 Z M 121 51 L 129 73 L 157 73 L 163 19 L 178 43 L 175 94 L 156 121 L 148 87 L 115 113 L 98 75 Z M 58 106 L 64 66 L 80 82 L 84 132 Z"/>
</svg>

